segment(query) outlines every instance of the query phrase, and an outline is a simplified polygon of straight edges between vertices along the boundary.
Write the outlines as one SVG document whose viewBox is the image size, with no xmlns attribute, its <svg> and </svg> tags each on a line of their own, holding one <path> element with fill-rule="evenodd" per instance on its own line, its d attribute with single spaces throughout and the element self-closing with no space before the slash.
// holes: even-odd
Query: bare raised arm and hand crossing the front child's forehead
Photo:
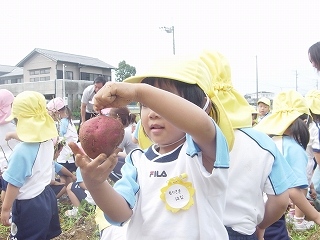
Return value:
<svg viewBox="0 0 320 240">
<path fill-rule="evenodd" d="M 215 127 L 208 114 L 184 98 L 143 83 L 111 83 L 95 95 L 95 109 L 140 102 L 190 134 L 206 156 L 215 156 Z M 190 121 L 186 121 L 186 119 Z"/>
</svg>

